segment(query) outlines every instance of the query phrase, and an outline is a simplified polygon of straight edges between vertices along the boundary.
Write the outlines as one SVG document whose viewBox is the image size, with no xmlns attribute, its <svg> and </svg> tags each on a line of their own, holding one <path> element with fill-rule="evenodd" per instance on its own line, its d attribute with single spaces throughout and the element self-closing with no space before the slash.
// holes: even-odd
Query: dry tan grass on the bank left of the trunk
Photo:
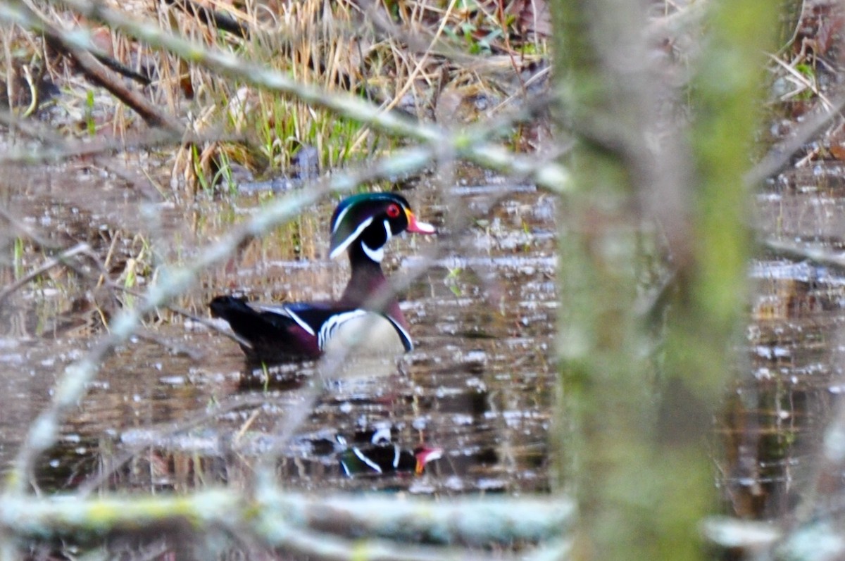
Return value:
<svg viewBox="0 0 845 561">
<path fill-rule="evenodd" d="M 517 15 L 499 12 L 492 3 L 382 2 L 374 3 L 366 14 L 355 3 L 319 0 L 248 0 L 237 7 L 216 0 L 128 5 L 111 0 L 107 4 L 175 35 L 281 71 L 303 84 L 328 92 L 351 92 L 385 111 L 399 110 L 419 120 L 444 117 L 452 123 L 465 90 L 472 100 L 482 91 L 491 101 L 465 104 L 459 122 L 499 111 L 519 95 L 521 71 L 537 63 L 546 51 L 542 35 L 526 30 Z M 57 4 L 42 0 L 30 2 L 29 7 L 58 29 L 89 29 L 102 54 L 150 79 L 148 85 L 124 80 L 155 108 L 188 130 L 213 139 L 177 146 L 172 155 L 172 176 L 180 178 L 178 183 L 188 193 L 221 183 L 235 163 L 256 176 L 283 174 L 302 146 L 318 149 L 324 169 L 396 146 L 395 140 L 358 123 L 303 101 L 239 84 Z M 210 12 L 202 10 L 226 14 L 248 33 L 240 36 L 209 25 Z M 12 112 L 46 116 L 62 138 L 117 139 L 118 149 L 119 140 L 145 130 L 142 118 L 92 85 L 76 64 L 35 33 L 3 27 L 0 37 L 7 105 Z M 46 89 L 33 101 L 30 90 L 36 90 L 38 82 L 28 78 L 30 74 L 43 74 L 61 94 L 53 94 L 52 102 L 44 104 Z M 447 112 L 439 106 L 443 92 L 447 93 L 443 104 Z M 503 101 L 507 102 L 503 105 Z"/>
</svg>

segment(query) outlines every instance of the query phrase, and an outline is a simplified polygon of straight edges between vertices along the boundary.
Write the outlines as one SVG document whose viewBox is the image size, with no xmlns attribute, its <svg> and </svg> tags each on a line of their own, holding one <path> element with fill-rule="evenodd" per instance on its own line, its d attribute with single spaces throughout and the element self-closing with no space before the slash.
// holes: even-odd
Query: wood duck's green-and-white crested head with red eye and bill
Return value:
<svg viewBox="0 0 845 561">
<path fill-rule="evenodd" d="M 375 263 L 384 257 L 384 245 L 403 231 L 433 234 L 434 226 L 418 221 L 405 197 L 396 193 L 352 195 L 337 205 L 331 216 L 330 257 L 347 249 L 360 250 Z M 356 252 L 357 253 L 357 252 Z"/>
</svg>

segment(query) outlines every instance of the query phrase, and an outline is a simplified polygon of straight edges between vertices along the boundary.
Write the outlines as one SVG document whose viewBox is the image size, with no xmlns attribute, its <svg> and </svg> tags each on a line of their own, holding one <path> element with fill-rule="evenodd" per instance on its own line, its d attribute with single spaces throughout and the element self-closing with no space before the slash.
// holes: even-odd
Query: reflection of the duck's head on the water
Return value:
<svg viewBox="0 0 845 561">
<path fill-rule="evenodd" d="M 338 436 L 341 446 L 348 446 L 346 439 Z M 376 431 L 368 444 L 350 446 L 339 455 L 341 470 L 346 477 L 358 475 L 389 475 L 413 471 L 421 475 L 426 464 L 443 457 L 443 449 L 429 446 L 401 449 L 390 441 L 390 433 Z"/>
</svg>

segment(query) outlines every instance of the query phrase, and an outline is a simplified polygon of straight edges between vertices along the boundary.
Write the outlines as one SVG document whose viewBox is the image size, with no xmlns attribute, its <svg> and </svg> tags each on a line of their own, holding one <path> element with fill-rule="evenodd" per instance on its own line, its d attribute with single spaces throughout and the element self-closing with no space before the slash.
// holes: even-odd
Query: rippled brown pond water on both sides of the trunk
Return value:
<svg viewBox="0 0 845 561">
<path fill-rule="evenodd" d="M 153 208 L 155 220 L 134 215 L 137 223 L 121 228 L 115 225 L 126 208 L 115 193 L 85 199 L 76 191 L 77 199 L 60 204 L 68 193 L 23 185 L 12 204 L 27 224 L 63 247 L 87 242 L 106 263 L 105 272 L 124 284 L 132 278 L 139 289 L 155 264 L 190 259 L 267 196 L 200 201 L 187 214 L 172 206 Z M 811 187 L 805 177 L 773 184 L 758 199 L 760 231 L 841 248 L 842 200 L 833 187 Z M 453 224 L 447 205 L 451 210 L 454 201 L 439 199 L 438 192 L 420 185 L 406 195 L 418 215 L 439 226 L 440 251 L 433 251 L 433 240 L 403 237 L 388 252 L 388 270 L 430 265 L 406 291 L 402 308 L 417 348 L 394 374 L 323 382 L 313 376 L 313 365 L 245 371 L 232 340 L 162 310 L 107 360 L 68 418 L 60 443 L 39 464 L 39 484 L 187 489 L 246 482 L 255 461 L 278 454 L 280 477 L 303 489 L 548 488 L 545 435 L 557 305 L 553 198 L 524 185 L 457 188 L 448 196 L 472 215 L 466 224 Z M 273 235 L 245 244 L 177 305 L 206 316 L 205 302 L 226 291 L 264 301 L 337 297 L 348 266 L 326 257 L 333 205 L 326 201 Z M 23 248 L 19 263 L 0 267 L 3 286 L 14 280 L 15 268 L 32 270 L 44 259 L 41 248 L 25 244 L 30 247 Z M 46 406 L 57 373 L 84 355 L 110 310 L 122 303 L 97 291 L 103 271 L 90 259 L 77 265 L 75 274 L 46 272 L 0 307 L 3 466 Z M 845 346 L 838 335 L 845 322 L 845 275 L 762 255 L 750 276 L 747 346 L 716 428 L 723 444 L 715 454 L 717 486 L 726 511 L 770 518 L 800 500 L 813 477 L 810 458 L 821 429 L 845 388 Z M 133 297 L 119 298 L 125 303 Z M 283 439 L 287 416 L 303 402 L 308 416 L 290 440 Z M 443 456 L 420 477 L 390 470 L 347 477 L 341 458 L 372 444 L 368 435 L 379 429 L 390 434 L 391 446 L 436 447 Z"/>
</svg>

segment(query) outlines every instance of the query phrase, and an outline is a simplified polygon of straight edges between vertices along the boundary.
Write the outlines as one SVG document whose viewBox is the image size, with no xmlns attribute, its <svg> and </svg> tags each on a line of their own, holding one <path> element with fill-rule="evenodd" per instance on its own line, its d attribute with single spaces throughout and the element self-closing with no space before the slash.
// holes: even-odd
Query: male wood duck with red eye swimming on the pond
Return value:
<svg viewBox="0 0 845 561">
<path fill-rule="evenodd" d="M 356 346 L 384 356 L 411 351 L 408 324 L 395 297 L 378 308 L 387 280 L 381 270 L 384 246 L 403 231 L 433 234 L 434 226 L 417 221 L 408 201 L 396 193 L 353 195 L 337 205 L 331 217 L 330 257 L 346 251 L 352 277 L 337 302 L 248 303 L 220 296 L 211 314 L 225 319 L 248 346 L 248 359 L 292 362 L 320 357 L 333 346 Z"/>
</svg>

